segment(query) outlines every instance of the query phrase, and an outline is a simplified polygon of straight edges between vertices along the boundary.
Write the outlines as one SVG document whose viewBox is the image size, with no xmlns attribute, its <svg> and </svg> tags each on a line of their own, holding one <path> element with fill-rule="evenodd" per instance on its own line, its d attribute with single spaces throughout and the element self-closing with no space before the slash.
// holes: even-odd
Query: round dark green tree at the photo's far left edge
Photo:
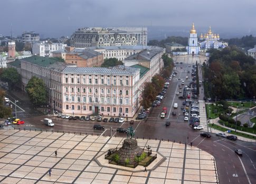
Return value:
<svg viewBox="0 0 256 184">
<path fill-rule="evenodd" d="M 15 68 L 4 68 L 0 75 L 0 79 L 8 83 L 9 89 L 12 89 L 15 85 L 21 84 L 21 75 Z"/>
</svg>

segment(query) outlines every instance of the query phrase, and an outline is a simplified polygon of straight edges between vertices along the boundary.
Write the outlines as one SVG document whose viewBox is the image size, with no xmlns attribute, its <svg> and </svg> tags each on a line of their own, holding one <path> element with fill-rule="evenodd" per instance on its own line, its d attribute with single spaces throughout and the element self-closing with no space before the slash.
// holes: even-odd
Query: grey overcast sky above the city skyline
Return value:
<svg viewBox="0 0 256 184">
<path fill-rule="evenodd" d="M 79 27 L 171 26 L 256 34 L 255 0 L 1 0 L 0 34 L 70 36 Z M 201 33 L 201 32 L 200 32 Z"/>
</svg>

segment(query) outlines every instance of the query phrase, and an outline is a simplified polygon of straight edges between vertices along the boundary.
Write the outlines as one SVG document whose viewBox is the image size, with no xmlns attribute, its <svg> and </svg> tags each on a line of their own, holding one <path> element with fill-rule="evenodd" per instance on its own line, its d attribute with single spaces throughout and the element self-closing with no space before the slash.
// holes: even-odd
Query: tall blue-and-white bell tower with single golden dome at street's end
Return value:
<svg viewBox="0 0 256 184">
<path fill-rule="evenodd" d="M 187 52 L 188 54 L 198 54 L 200 51 L 200 46 L 197 43 L 197 34 L 195 29 L 195 24 L 192 24 L 192 28 L 190 29 L 190 36 L 188 38 L 188 46 Z"/>
</svg>

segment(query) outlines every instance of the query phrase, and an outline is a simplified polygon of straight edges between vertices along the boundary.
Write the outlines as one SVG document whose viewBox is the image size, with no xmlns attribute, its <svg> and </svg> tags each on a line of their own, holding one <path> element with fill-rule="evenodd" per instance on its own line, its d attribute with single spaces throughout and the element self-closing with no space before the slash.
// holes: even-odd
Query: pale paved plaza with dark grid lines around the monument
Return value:
<svg viewBox="0 0 256 184">
<path fill-rule="evenodd" d="M 166 159 L 154 170 L 100 167 L 95 159 L 124 138 L 56 132 L 0 130 L 0 183 L 216 183 L 213 156 L 165 140 L 137 139 Z M 58 155 L 55 156 L 54 151 Z M 51 176 L 49 176 L 51 170 Z"/>
</svg>

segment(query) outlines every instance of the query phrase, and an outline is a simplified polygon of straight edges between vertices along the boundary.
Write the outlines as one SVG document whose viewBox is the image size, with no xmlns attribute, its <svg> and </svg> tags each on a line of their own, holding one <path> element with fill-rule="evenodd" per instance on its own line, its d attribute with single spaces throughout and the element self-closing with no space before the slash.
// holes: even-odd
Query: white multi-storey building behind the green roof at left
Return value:
<svg viewBox="0 0 256 184">
<path fill-rule="evenodd" d="M 33 55 L 37 56 L 52 57 L 53 51 L 64 49 L 64 47 L 67 47 L 67 44 L 51 42 L 33 42 L 32 53 Z"/>
</svg>

